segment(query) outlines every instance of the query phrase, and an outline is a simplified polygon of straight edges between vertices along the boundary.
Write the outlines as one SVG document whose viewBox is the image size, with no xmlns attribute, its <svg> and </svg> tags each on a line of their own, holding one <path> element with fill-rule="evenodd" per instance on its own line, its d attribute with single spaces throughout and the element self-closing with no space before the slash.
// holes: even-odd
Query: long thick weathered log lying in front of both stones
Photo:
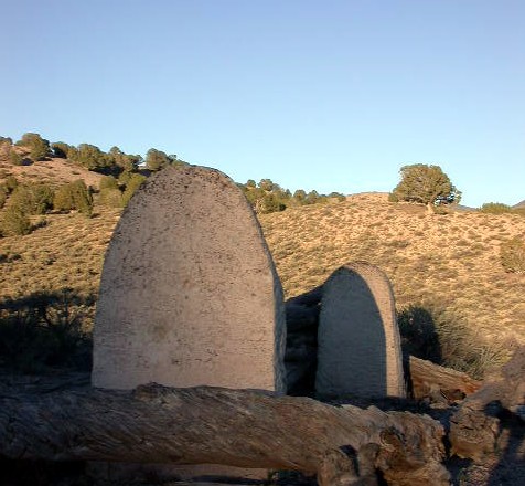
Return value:
<svg viewBox="0 0 525 486">
<path fill-rule="evenodd" d="M 0 391 L 0 454 L 17 459 L 293 469 L 321 486 L 375 484 L 378 471 L 390 485 L 448 485 L 442 435 L 426 415 L 248 390 Z"/>
</svg>

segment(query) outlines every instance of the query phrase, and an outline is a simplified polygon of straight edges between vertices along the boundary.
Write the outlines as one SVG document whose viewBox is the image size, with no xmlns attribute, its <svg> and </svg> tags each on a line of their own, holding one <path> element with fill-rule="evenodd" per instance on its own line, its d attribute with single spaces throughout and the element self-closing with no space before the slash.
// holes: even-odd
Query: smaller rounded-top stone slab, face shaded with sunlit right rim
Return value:
<svg viewBox="0 0 525 486">
<path fill-rule="evenodd" d="M 394 295 L 376 266 L 351 263 L 326 281 L 318 340 L 318 395 L 405 397 Z"/>
</svg>

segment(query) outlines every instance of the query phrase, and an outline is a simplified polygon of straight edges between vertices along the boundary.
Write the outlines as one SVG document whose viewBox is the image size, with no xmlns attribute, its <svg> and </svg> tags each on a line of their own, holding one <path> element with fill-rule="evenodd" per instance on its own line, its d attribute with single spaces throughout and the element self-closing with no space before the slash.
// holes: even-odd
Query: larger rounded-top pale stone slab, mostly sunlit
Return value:
<svg viewBox="0 0 525 486">
<path fill-rule="evenodd" d="M 93 384 L 283 392 L 285 334 L 279 278 L 235 183 L 203 167 L 150 178 L 104 263 Z"/>
</svg>

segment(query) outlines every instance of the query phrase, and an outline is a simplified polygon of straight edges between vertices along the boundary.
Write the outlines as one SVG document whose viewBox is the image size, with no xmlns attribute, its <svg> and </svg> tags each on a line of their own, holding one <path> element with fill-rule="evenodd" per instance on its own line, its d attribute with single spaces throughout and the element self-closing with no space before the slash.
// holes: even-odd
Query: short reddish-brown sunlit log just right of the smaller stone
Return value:
<svg viewBox="0 0 525 486">
<path fill-rule="evenodd" d="M 456 402 L 474 393 L 481 388 L 481 381 L 451 368 L 435 364 L 431 361 L 409 357 L 409 378 L 415 399 L 442 399 Z"/>
</svg>

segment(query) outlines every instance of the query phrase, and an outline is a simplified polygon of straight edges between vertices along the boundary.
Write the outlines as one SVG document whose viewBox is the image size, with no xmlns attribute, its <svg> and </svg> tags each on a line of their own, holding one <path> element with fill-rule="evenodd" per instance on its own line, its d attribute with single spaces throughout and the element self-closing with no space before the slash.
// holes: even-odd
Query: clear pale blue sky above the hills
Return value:
<svg viewBox="0 0 525 486">
<path fill-rule="evenodd" d="M 436 163 L 525 199 L 523 0 L 0 0 L 0 135 L 238 182 L 389 191 Z"/>
</svg>

